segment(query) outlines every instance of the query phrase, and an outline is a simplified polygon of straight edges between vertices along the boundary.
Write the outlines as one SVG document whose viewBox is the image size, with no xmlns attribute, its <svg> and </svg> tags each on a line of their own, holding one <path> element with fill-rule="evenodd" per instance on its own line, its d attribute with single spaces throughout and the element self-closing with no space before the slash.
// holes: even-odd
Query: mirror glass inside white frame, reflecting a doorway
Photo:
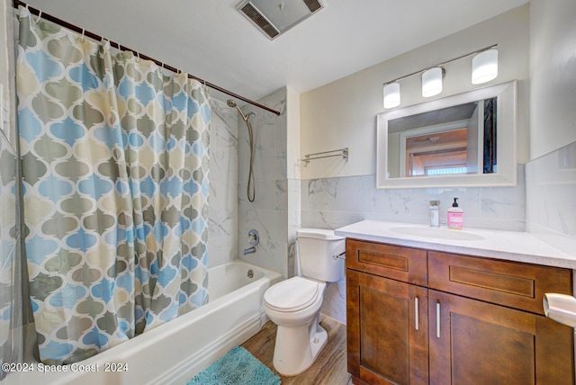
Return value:
<svg viewBox="0 0 576 385">
<path fill-rule="evenodd" d="M 497 170 L 496 97 L 388 121 L 388 177 Z"/>
</svg>

